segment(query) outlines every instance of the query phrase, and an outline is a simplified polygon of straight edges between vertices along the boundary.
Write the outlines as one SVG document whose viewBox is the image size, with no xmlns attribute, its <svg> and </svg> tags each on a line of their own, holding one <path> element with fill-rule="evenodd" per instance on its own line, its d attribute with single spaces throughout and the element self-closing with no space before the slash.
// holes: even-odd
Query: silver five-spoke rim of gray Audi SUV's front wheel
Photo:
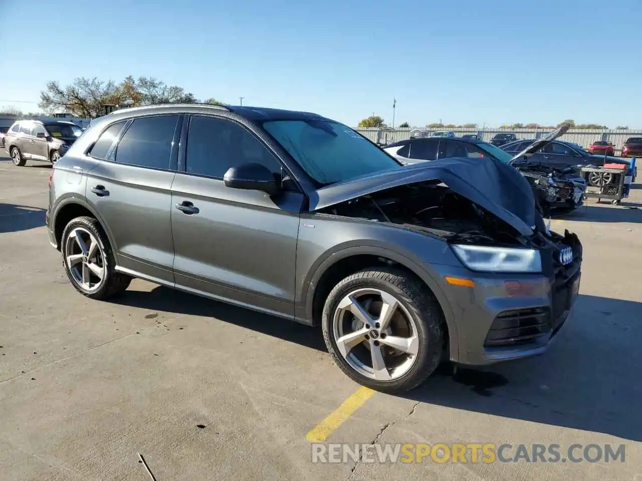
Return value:
<svg viewBox="0 0 642 481">
<path fill-rule="evenodd" d="M 349 292 L 333 316 L 334 342 L 352 369 L 392 381 L 417 360 L 419 335 L 408 309 L 392 294 L 365 288 Z"/>
</svg>

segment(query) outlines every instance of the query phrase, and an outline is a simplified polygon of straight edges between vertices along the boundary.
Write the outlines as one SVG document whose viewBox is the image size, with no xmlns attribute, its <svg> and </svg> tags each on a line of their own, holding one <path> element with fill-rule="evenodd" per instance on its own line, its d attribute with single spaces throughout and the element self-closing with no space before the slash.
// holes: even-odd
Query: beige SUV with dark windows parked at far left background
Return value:
<svg viewBox="0 0 642 481">
<path fill-rule="evenodd" d="M 68 121 L 16 121 L 5 135 L 4 150 L 13 165 L 19 167 L 27 160 L 55 163 L 82 133 L 80 127 Z"/>
</svg>

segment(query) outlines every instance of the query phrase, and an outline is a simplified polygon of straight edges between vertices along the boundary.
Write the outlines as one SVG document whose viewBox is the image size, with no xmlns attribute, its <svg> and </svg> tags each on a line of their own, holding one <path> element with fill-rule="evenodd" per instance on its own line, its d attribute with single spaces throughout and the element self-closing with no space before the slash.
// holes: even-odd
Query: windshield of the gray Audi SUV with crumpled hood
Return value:
<svg viewBox="0 0 642 481">
<path fill-rule="evenodd" d="M 356 131 L 338 122 L 268 121 L 263 122 L 263 128 L 311 178 L 323 185 L 403 168 Z"/>
</svg>

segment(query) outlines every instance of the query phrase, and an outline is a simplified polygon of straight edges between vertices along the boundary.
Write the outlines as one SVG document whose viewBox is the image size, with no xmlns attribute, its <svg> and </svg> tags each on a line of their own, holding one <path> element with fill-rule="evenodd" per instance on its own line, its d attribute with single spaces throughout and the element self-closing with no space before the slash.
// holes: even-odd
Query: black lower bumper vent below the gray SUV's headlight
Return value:
<svg viewBox="0 0 642 481">
<path fill-rule="evenodd" d="M 505 310 L 492 321 L 484 346 L 496 348 L 528 344 L 549 335 L 551 328 L 548 308 Z"/>
</svg>

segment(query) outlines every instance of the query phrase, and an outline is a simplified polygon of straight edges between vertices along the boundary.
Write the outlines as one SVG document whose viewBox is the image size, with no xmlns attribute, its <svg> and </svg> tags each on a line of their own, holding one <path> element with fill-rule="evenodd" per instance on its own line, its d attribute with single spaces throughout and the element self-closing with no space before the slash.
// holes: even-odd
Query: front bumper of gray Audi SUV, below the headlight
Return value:
<svg viewBox="0 0 642 481">
<path fill-rule="evenodd" d="M 548 350 L 577 299 L 582 263 L 581 244 L 577 247 L 569 266 L 551 264 L 542 274 L 482 274 L 442 266 L 443 276 L 474 282 L 474 287 L 444 288 L 458 338 L 458 345 L 451 345 L 451 360 L 483 365 Z"/>
</svg>

